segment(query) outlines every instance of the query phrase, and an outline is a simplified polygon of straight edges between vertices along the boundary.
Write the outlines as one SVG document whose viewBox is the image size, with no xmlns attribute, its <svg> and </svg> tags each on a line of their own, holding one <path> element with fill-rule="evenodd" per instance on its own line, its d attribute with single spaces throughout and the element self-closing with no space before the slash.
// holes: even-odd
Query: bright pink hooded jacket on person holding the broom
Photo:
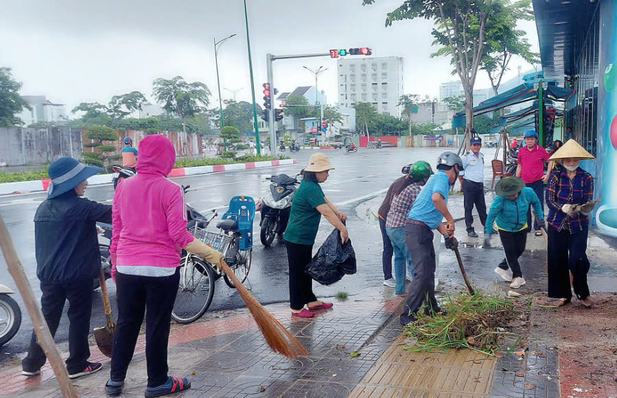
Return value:
<svg viewBox="0 0 617 398">
<path fill-rule="evenodd" d="M 137 175 L 122 181 L 113 196 L 114 266 L 177 267 L 180 249 L 193 241 L 184 191 L 165 178 L 174 161 L 167 137 L 149 135 L 139 142 Z"/>
</svg>

